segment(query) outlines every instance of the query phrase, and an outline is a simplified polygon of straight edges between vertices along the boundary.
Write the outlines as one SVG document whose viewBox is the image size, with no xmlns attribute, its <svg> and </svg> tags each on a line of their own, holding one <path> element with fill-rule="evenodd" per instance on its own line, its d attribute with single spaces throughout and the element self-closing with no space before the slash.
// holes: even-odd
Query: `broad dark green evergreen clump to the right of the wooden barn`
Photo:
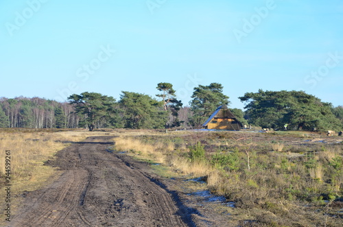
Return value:
<svg viewBox="0 0 343 227">
<path fill-rule="evenodd" d="M 339 130 L 342 123 L 332 112 L 332 105 L 303 91 L 262 91 L 239 97 L 246 101 L 250 123 L 263 128 L 304 130 Z"/>
</svg>

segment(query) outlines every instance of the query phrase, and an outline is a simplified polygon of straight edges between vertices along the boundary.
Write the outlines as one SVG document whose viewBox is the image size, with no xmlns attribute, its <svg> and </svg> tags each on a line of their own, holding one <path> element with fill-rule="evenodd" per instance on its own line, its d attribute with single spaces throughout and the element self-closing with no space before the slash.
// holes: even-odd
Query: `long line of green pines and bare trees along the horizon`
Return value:
<svg viewBox="0 0 343 227">
<path fill-rule="evenodd" d="M 223 86 L 193 89 L 189 106 L 173 85 L 161 82 L 156 97 L 122 91 L 119 100 L 100 93 L 73 94 L 67 102 L 39 97 L 0 98 L 1 128 L 199 128 L 221 105 L 229 105 Z M 245 111 L 230 108 L 243 124 L 281 130 L 342 130 L 343 107 L 333 107 L 303 91 L 263 91 L 239 97 Z"/>
</svg>

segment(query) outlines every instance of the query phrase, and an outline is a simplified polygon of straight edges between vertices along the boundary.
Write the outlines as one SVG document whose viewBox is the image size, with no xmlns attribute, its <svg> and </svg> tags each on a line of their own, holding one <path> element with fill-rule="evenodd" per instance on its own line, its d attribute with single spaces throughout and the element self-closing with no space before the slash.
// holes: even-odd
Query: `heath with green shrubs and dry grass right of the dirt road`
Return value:
<svg viewBox="0 0 343 227">
<path fill-rule="evenodd" d="M 339 138 L 339 137 L 337 137 Z M 240 226 L 340 226 L 343 149 L 314 132 L 174 132 L 115 139 L 115 150 L 198 178 L 235 202 Z M 232 211 L 235 212 L 235 211 Z"/>
</svg>

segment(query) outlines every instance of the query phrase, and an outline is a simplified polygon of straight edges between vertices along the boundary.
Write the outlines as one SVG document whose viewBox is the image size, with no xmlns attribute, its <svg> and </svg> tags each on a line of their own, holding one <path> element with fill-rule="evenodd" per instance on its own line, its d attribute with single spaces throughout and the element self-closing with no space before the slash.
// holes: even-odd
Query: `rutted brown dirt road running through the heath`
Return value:
<svg viewBox="0 0 343 227">
<path fill-rule="evenodd" d="M 28 193 L 12 226 L 196 226 L 178 193 L 144 163 L 110 153 L 113 136 L 89 137 L 48 165 L 60 178 Z"/>
</svg>

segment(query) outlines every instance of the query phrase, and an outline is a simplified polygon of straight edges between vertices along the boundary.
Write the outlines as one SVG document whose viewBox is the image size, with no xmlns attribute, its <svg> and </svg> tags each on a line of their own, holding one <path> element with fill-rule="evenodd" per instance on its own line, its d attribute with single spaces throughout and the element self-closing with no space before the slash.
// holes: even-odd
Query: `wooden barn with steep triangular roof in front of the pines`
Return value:
<svg viewBox="0 0 343 227">
<path fill-rule="evenodd" d="M 226 105 L 218 107 L 202 126 L 206 129 L 235 131 L 243 127 Z"/>
</svg>

